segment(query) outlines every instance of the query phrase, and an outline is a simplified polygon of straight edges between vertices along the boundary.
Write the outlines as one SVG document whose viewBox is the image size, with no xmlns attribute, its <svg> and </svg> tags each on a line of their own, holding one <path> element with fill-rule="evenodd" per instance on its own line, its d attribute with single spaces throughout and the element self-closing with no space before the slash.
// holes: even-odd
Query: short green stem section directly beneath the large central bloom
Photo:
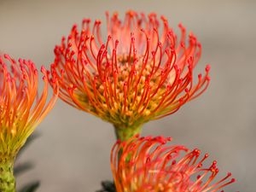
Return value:
<svg viewBox="0 0 256 192">
<path fill-rule="evenodd" d="M 114 125 L 114 131 L 117 139 L 121 141 L 127 141 L 129 138 L 140 134 L 142 131 L 142 125 L 137 127 L 118 127 Z"/>
</svg>

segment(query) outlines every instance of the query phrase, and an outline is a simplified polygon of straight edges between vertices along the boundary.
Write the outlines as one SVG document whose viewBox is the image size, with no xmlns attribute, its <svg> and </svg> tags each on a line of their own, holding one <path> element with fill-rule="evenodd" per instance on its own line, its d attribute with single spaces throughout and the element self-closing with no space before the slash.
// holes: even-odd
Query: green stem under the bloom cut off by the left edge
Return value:
<svg viewBox="0 0 256 192">
<path fill-rule="evenodd" d="M 0 191 L 15 192 L 14 160 L 0 157 Z"/>
</svg>

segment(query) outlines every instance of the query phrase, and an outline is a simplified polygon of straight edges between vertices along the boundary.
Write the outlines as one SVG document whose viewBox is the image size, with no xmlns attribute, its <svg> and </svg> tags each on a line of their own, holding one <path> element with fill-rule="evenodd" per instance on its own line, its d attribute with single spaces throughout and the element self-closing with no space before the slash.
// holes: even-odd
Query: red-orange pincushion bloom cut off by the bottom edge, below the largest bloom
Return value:
<svg viewBox="0 0 256 192">
<path fill-rule="evenodd" d="M 179 145 L 167 145 L 165 137 L 131 137 L 117 142 L 111 153 L 111 166 L 117 192 L 216 192 L 234 183 L 229 172 L 214 182 L 218 175 L 216 161 L 202 164 L 208 154 Z M 182 153 L 184 153 L 182 155 Z"/>
</svg>

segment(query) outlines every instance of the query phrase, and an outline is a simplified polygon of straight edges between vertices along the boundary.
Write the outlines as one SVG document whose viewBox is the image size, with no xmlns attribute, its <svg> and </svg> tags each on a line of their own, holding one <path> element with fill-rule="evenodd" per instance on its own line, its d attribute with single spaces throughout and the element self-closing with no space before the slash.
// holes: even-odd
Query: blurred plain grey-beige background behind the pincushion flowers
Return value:
<svg viewBox="0 0 256 192">
<path fill-rule="evenodd" d="M 176 29 L 182 21 L 202 44 L 197 72 L 212 65 L 207 92 L 145 125 L 143 135 L 172 136 L 173 143 L 201 148 L 218 160 L 219 174 L 236 177 L 226 191 L 255 191 L 255 1 L 0 0 L 0 51 L 49 67 L 55 44 L 73 23 L 84 17 L 104 22 L 106 10 L 122 17 L 127 9 L 166 15 Z M 60 100 L 38 131 L 41 137 L 21 157 L 36 166 L 18 179 L 19 186 L 40 179 L 38 192 L 92 192 L 111 179 L 112 125 Z"/>
</svg>

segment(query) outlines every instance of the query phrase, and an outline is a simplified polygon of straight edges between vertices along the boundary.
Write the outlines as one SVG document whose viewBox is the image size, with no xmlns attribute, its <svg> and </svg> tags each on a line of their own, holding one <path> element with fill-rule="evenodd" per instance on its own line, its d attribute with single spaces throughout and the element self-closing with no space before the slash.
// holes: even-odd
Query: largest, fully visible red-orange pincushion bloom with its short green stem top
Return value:
<svg viewBox="0 0 256 192">
<path fill-rule="evenodd" d="M 107 13 L 106 43 L 100 20 L 92 29 L 86 19 L 81 30 L 74 25 L 67 40 L 55 47 L 51 65 L 61 99 L 112 123 L 117 136 L 125 139 L 148 120 L 175 113 L 200 96 L 210 80 L 207 66 L 195 83 L 201 44 L 192 33 L 187 40 L 181 24 L 178 39 L 166 18 L 160 20 L 155 14 L 129 11 L 121 21 Z"/>
</svg>

